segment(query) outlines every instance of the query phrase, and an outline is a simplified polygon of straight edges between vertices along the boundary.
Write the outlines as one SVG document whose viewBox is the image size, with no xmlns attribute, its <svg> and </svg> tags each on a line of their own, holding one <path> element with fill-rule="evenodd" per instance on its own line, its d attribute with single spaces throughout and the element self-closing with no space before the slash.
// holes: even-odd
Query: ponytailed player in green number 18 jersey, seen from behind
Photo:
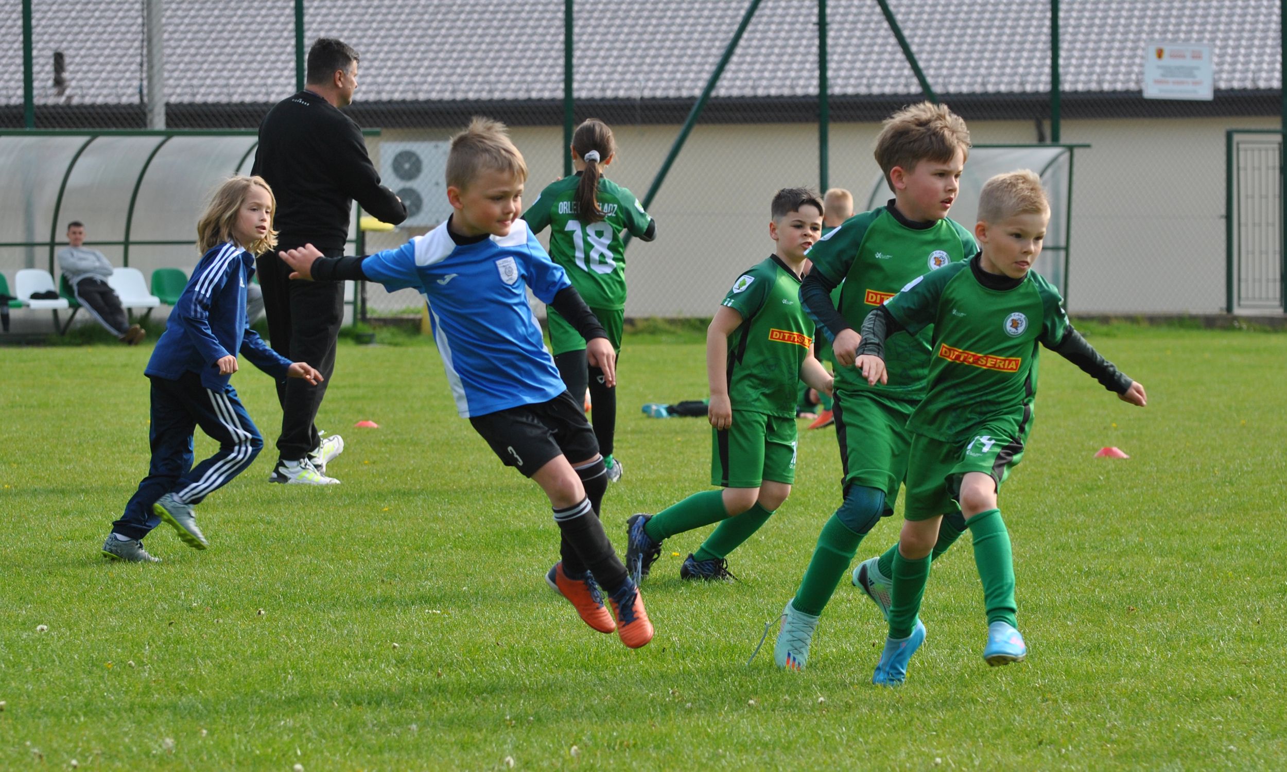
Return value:
<svg viewBox="0 0 1287 772">
<path fill-rule="evenodd" d="M 571 135 L 571 161 L 577 172 L 546 187 L 523 219 L 537 233 L 550 226 L 550 256 L 564 266 L 571 286 L 607 331 L 607 340 L 620 354 L 625 315 L 625 232 L 642 241 L 656 237 L 656 223 L 634 194 L 604 176 L 616 156 L 613 130 L 588 118 Z M 559 311 L 547 309 L 550 346 L 568 391 L 578 404 L 589 386 L 595 405 L 591 419 L 598 452 L 607 464 L 607 479 L 622 479 L 622 464 L 613 457 L 616 434 L 616 387 L 604 382 L 604 373 L 586 362 L 586 338 Z"/>
</svg>

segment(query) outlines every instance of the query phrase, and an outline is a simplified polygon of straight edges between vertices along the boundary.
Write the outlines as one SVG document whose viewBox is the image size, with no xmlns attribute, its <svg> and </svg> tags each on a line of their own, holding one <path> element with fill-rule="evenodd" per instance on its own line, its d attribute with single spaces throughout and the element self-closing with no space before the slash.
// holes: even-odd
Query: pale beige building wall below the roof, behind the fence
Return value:
<svg viewBox="0 0 1287 772">
<path fill-rule="evenodd" d="M 1275 118 L 1079 120 L 1062 139 L 1086 143 L 1073 170 L 1068 301 L 1073 313 L 1216 313 L 1225 300 L 1225 129 L 1272 129 Z M 831 125 L 831 185 L 858 206 L 879 174 L 878 124 Z M 616 126 L 607 175 L 640 198 L 678 126 Z M 1022 121 L 976 121 L 976 144 L 1031 143 Z M 387 130 L 385 139 L 441 139 L 441 131 Z M 562 174 L 561 127 L 516 127 L 528 160 L 530 202 Z M 714 313 L 734 279 L 772 251 L 768 203 L 788 185 L 817 184 L 812 124 L 699 125 L 650 214 L 658 241 L 627 252 L 631 317 Z M 967 224 L 972 225 L 972 224 Z M 373 247 L 405 234 L 373 238 Z M 414 302 L 414 301 L 412 301 Z M 384 301 L 376 300 L 376 308 Z"/>
</svg>

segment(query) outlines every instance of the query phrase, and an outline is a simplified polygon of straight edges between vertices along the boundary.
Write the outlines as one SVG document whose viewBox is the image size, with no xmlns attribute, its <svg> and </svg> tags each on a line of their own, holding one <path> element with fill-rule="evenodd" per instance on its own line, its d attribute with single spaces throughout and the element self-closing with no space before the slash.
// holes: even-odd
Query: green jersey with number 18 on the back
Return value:
<svg viewBox="0 0 1287 772">
<path fill-rule="evenodd" d="M 580 172 L 546 187 L 523 219 L 537 233 L 550 226 L 550 256 L 568 271 L 577 292 L 592 309 L 625 308 L 625 248 L 622 232 L 647 232 L 653 217 L 634 194 L 607 178 L 598 178 L 598 223 L 582 223 L 577 215 L 577 185 Z"/>
</svg>

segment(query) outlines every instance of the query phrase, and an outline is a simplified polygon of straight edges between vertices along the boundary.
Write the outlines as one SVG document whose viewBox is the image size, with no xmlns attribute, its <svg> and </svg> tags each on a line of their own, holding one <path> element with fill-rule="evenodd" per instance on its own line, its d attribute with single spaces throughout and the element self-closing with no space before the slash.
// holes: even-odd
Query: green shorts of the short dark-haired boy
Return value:
<svg viewBox="0 0 1287 772">
<path fill-rule="evenodd" d="M 712 428 L 710 484 L 759 488 L 795 482 L 795 418 L 734 410 L 732 426 Z"/>
</svg>

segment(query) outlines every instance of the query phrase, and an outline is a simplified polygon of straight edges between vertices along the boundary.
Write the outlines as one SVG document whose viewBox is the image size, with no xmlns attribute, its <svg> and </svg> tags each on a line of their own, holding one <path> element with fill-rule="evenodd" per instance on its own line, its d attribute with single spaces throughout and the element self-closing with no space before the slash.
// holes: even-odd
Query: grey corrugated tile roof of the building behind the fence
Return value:
<svg viewBox="0 0 1287 772">
<path fill-rule="evenodd" d="M 140 0 L 35 4 L 39 104 L 140 100 Z M 1049 90 L 1049 3 L 891 0 L 940 94 Z M 306 40 L 341 37 L 362 54 L 358 98 L 548 100 L 562 96 L 562 0 L 309 0 Z M 694 98 L 732 36 L 746 0 L 636 0 L 577 6 L 580 99 Z M 919 91 L 873 0 L 830 0 L 831 93 Z M 1277 0 L 1063 0 L 1063 89 L 1139 91 L 1145 46 L 1210 42 L 1218 90 L 1282 86 Z M 717 96 L 802 96 L 817 90 L 817 5 L 764 0 Z M 18 3 L 0 30 L 21 40 Z M 291 0 L 165 0 L 171 103 L 265 103 L 293 90 Z M 53 86 L 53 54 L 67 86 Z M 21 46 L 0 53 L 0 103 L 22 103 Z"/>
</svg>

